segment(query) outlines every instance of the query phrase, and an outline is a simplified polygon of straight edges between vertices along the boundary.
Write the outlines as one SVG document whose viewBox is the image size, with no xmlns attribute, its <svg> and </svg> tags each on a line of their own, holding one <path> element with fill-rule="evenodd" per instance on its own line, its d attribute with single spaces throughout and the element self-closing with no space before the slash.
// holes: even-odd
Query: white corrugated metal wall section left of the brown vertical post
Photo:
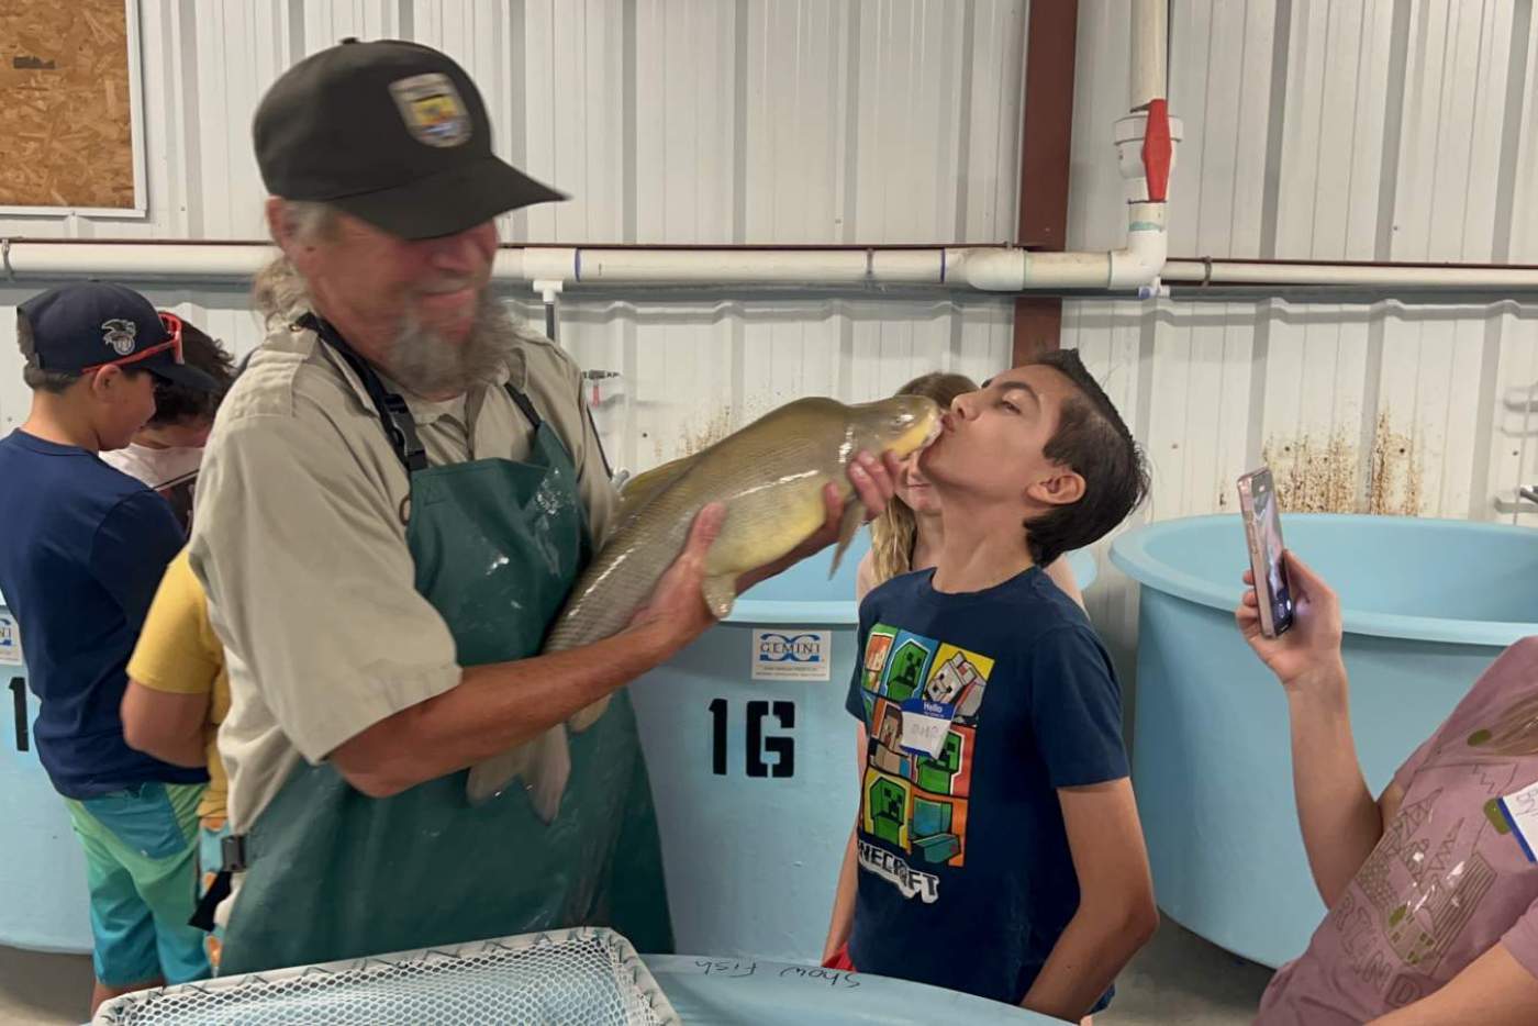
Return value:
<svg viewBox="0 0 1538 1026">
<path fill-rule="evenodd" d="M 0 218 L 0 237 L 260 237 L 255 103 L 345 35 L 452 54 L 501 155 L 572 194 L 504 218 L 509 240 L 1012 234 L 1023 0 L 141 0 L 140 18 L 149 217 Z M 0 289 L 0 303 L 31 291 Z M 238 292 L 154 298 L 255 341 Z M 986 375 L 1010 332 L 1007 301 L 946 297 L 569 297 L 561 325 L 583 365 L 621 372 L 595 414 L 631 468 L 800 394 L 864 398 L 935 366 Z M 25 415 L 14 365 L 0 338 L 5 425 Z"/>
</svg>

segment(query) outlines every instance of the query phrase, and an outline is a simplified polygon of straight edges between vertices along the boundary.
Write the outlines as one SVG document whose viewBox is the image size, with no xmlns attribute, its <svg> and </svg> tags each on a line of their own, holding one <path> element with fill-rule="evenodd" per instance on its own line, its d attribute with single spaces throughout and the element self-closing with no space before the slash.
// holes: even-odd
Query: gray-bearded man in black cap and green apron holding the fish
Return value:
<svg viewBox="0 0 1538 1026">
<path fill-rule="evenodd" d="M 220 972 L 578 924 L 669 951 L 623 686 L 711 626 L 723 514 L 624 632 L 538 655 L 615 495 L 577 366 L 488 285 L 492 218 L 564 197 L 492 154 L 474 83 L 412 43 L 298 63 L 254 134 L 269 335 L 220 409 L 191 543 L 231 678 L 231 837 L 200 909 Z M 867 509 L 894 474 L 851 469 Z M 464 771 L 520 745 L 538 772 L 472 808 Z"/>
</svg>

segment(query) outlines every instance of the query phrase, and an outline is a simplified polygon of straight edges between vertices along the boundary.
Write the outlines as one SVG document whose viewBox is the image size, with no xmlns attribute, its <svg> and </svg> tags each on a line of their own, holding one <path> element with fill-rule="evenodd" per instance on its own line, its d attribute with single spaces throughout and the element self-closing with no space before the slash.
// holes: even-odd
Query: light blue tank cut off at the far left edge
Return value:
<svg viewBox="0 0 1538 1026">
<path fill-rule="evenodd" d="M 32 951 L 91 951 L 86 860 L 65 801 L 48 781 L 32 741 L 37 698 L 15 620 L 0 606 L 0 944 Z"/>
</svg>

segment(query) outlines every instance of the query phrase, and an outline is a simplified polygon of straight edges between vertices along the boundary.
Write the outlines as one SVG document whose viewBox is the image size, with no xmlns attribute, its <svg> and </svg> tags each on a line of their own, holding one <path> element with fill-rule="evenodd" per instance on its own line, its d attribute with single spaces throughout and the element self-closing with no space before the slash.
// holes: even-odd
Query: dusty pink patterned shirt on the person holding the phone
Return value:
<svg viewBox="0 0 1538 1026">
<path fill-rule="evenodd" d="M 1398 815 L 1266 989 L 1261 1026 L 1377 1018 L 1496 943 L 1538 977 L 1538 864 L 1498 803 L 1538 783 L 1538 637 L 1506 649 L 1393 780 Z M 1538 829 L 1527 841 L 1538 851 Z"/>
</svg>

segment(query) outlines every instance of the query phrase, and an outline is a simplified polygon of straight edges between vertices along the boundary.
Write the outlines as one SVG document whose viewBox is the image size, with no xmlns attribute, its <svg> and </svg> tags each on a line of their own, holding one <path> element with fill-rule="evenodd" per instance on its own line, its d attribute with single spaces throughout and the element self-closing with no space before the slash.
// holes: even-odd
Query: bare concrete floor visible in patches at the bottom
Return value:
<svg viewBox="0 0 1538 1026">
<path fill-rule="evenodd" d="M 1240 1026 L 1249 1023 L 1270 969 L 1164 923 L 1117 984 L 1117 1001 L 1095 1026 Z M 91 958 L 0 948 L 0 1023 L 85 1021 Z"/>
</svg>

